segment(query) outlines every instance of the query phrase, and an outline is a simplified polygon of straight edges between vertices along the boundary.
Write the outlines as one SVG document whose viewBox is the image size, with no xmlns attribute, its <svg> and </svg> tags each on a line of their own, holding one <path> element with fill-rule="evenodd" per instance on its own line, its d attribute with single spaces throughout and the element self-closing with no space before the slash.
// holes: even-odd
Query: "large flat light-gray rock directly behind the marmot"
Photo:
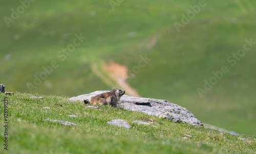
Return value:
<svg viewBox="0 0 256 154">
<path fill-rule="evenodd" d="M 90 100 L 91 97 L 98 94 L 102 94 L 110 91 L 96 91 L 90 94 L 84 94 L 77 97 L 72 97 L 72 101 L 83 101 Z M 143 112 L 148 115 L 155 115 L 159 118 L 165 118 L 174 122 L 185 122 L 193 125 L 203 126 L 202 121 L 199 121 L 195 116 L 189 112 L 186 108 L 181 107 L 177 104 L 169 102 L 167 100 L 153 99 L 153 98 L 142 98 L 132 97 L 123 95 L 120 99 L 120 103 L 117 107 Z"/>
</svg>

